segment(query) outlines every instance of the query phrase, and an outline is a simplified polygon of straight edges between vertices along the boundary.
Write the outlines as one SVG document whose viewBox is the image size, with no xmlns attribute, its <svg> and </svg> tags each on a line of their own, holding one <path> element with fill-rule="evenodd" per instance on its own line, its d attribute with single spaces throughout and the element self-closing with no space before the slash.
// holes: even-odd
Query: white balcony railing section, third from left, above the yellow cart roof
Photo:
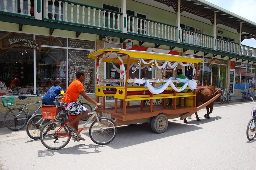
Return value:
<svg viewBox="0 0 256 170">
<path fill-rule="evenodd" d="M 153 36 L 155 38 L 162 38 L 171 41 L 176 41 L 175 30 L 176 26 L 168 25 L 152 21 L 146 18 L 140 18 L 136 16 L 127 16 L 127 32 Z"/>
</svg>

